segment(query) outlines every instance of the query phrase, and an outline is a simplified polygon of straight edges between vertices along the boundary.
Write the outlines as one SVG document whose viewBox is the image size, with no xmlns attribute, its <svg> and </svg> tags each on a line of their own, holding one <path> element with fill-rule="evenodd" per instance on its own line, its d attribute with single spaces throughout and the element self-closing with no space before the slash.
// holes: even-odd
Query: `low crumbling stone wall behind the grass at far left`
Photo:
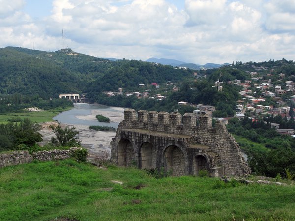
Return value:
<svg viewBox="0 0 295 221">
<path fill-rule="evenodd" d="M 72 147 L 69 150 L 43 150 L 32 154 L 29 151 L 14 151 L 0 154 L 0 168 L 18 164 L 29 163 L 32 160 L 51 161 L 70 158 L 78 147 Z"/>
</svg>

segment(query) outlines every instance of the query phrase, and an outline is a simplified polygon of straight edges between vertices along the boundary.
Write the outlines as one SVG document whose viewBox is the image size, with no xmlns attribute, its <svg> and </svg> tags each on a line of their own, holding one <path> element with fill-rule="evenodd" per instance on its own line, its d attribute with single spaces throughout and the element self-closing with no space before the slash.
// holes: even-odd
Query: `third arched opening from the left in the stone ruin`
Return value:
<svg viewBox="0 0 295 221">
<path fill-rule="evenodd" d="M 173 176 L 185 175 L 185 157 L 182 150 L 174 145 L 168 146 L 164 151 L 164 168 Z"/>
</svg>

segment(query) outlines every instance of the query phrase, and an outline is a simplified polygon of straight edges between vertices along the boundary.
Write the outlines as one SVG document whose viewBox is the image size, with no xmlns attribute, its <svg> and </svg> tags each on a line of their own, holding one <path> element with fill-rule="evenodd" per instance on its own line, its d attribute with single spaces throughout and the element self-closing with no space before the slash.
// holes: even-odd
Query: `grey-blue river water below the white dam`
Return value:
<svg viewBox="0 0 295 221">
<path fill-rule="evenodd" d="M 71 125 L 87 125 L 87 126 L 110 126 L 117 128 L 118 123 L 110 122 L 110 123 L 103 123 L 99 122 L 98 120 L 83 120 L 78 119 L 76 116 L 84 116 L 91 114 L 91 111 L 101 109 L 103 111 L 109 112 L 121 112 L 109 106 L 100 105 L 100 104 L 74 104 L 74 108 L 69 111 L 64 111 L 59 115 L 55 116 L 53 119 L 59 121 L 60 123 L 64 124 L 71 124 Z"/>
</svg>

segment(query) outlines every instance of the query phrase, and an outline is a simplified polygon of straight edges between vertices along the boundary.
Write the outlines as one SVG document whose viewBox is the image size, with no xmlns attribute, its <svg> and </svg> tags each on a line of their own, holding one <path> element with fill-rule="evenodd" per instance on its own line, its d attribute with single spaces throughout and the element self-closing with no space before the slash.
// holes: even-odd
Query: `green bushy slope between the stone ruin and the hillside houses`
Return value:
<svg viewBox="0 0 295 221">
<path fill-rule="evenodd" d="M 280 135 L 262 120 L 232 118 L 228 131 L 237 136 L 241 148 L 248 155 L 252 172 L 257 175 L 287 178 L 295 174 L 295 143 L 291 136 Z M 242 137 L 241 137 L 242 136 Z"/>
</svg>

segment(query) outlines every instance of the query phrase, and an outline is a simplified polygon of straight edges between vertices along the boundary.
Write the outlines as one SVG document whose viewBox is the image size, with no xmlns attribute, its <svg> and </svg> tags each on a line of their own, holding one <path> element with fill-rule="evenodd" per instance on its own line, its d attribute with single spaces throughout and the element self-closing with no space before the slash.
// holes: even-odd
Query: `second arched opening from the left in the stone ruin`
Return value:
<svg viewBox="0 0 295 221">
<path fill-rule="evenodd" d="M 151 143 L 145 142 L 140 148 L 139 161 L 142 169 L 156 167 L 156 153 Z"/>
</svg>

